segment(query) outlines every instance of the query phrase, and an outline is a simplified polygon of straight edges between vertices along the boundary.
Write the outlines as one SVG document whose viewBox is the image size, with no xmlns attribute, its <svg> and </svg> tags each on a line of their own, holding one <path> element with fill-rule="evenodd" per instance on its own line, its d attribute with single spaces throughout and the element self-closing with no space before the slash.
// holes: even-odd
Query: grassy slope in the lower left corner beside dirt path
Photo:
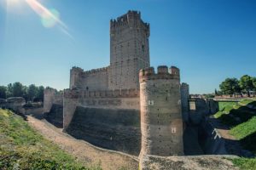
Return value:
<svg viewBox="0 0 256 170">
<path fill-rule="evenodd" d="M 84 167 L 36 133 L 11 111 L 0 109 L 0 169 L 101 169 Z"/>
</svg>

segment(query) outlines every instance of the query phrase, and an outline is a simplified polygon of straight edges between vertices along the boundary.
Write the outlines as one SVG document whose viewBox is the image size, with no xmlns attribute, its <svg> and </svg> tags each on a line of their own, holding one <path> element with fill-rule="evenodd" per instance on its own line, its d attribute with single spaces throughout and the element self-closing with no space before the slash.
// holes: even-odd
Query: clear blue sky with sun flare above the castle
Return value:
<svg viewBox="0 0 256 170">
<path fill-rule="evenodd" d="M 0 85 L 63 89 L 73 66 L 108 66 L 109 20 L 131 9 L 150 23 L 150 64 L 176 65 L 191 94 L 212 93 L 226 77 L 256 76 L 255 8 L 254 0 L 0 0 Z"/>
</svg>

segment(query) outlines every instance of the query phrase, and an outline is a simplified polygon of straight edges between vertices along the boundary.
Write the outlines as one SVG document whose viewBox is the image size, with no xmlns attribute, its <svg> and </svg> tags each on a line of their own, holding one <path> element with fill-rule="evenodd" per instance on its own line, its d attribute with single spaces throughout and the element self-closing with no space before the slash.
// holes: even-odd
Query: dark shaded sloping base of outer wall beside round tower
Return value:
<svg viewBox="0 0 256 170">
<path fill-rule="evenodd" d="M 141 149 L 140 113 L 77 107 L 67 133 L 90 144 L 138 156 Z"/>
</svg>

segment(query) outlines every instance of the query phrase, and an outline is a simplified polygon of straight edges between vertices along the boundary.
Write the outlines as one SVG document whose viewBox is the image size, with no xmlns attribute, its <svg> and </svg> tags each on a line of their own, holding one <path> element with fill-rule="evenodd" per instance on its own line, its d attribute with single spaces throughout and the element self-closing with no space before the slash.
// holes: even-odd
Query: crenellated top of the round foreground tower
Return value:
<svg viewBox="0 0 256 170">
<path fill-rule="evenodd" d="M 175 66 L 169 68 L 166 65 L 160 65 L 157 68 L 157 73 L 154 72 L 154 67 L 142 69 L 139 73 L 140 82 L 155 79 L 180 79 L 179 69 Z"/>
</svg>

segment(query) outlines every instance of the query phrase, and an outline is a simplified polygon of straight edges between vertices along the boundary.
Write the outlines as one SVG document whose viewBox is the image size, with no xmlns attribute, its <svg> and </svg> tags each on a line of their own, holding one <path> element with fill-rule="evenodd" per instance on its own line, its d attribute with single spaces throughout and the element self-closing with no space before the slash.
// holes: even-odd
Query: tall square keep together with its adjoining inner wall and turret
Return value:
<svg viewBox="0 0 256 170">
<path fill-rule="evenodd" d="M 139 88 L 138 72 L 149 67 L 149 24 L 141 14 L 129 11 L 110 20 L 110 65 L 83 71 L 73 67 L 70 88 L 115 90 Z"/>
</svg>

